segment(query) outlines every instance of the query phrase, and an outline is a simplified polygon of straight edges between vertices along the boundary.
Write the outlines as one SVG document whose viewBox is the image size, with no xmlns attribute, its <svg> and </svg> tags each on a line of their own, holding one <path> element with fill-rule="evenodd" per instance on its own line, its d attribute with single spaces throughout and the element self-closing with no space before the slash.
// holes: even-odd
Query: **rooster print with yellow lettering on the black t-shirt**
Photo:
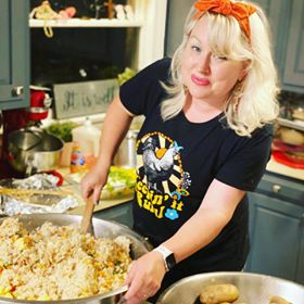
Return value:
<svg viewBox="0 0 304 304">
<path fill-rule="evenodd" d="M 188 197 L 190 174 L 182 168 L 183 147 L 162 132 L 144 135 L 137 141 L 137 203 L 157 218 L 176 219 Z"/>
</svg>

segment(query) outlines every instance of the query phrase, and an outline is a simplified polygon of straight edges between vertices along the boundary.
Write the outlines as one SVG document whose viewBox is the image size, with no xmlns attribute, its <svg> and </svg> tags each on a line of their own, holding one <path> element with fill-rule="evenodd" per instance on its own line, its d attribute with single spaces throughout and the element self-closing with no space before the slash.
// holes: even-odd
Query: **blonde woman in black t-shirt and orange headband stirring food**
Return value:
<svg viewBox="0 0 304 304">
<path fill-rule="evenodd" d="M 256 5 L 199 0 L 173 60 L 141 71 L 111 104 L 81 191 L 99 199 L 132 117 L 143 114 L 134 229 L 155 249 L 132 264 L 127 303 L 186 276 L 244 267 L 245 193 L 263 176 L 278 114 L 267 28 Z"/>
</svg>

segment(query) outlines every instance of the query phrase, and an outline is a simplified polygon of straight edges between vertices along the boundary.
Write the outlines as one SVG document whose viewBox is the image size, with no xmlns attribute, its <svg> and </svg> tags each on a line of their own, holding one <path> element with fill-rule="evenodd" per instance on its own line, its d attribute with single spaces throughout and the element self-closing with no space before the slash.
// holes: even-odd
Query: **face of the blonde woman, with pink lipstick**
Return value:
<svg viewBox="0 0 304 304">
<path fill-rule="evenodd" d="M 183 51 L 181 74 L 193 100 L 221 104 L 236 83 L 245 76 L 245 64 L 212 53 L 207 42 L 207 21 L 202 17 Z"/>
</svg>

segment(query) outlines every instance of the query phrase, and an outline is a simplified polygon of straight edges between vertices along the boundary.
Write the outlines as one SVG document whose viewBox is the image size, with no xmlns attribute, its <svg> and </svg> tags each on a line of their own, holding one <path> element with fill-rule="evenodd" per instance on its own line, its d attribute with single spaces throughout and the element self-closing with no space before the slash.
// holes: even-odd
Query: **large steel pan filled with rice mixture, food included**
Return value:
<svg viewBox="0 0 304 304">
<path fill-rule="evenodd" d="M 114 221 L 31 214 L 0 219 L 0 303 L 118 303 L 132 259 L 147 241 Z"/>
</svg>

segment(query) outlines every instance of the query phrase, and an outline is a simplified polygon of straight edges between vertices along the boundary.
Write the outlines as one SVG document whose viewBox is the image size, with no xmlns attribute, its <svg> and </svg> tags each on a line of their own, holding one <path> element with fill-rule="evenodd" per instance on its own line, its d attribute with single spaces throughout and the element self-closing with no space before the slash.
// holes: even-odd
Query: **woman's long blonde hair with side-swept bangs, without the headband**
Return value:
<svg viewBox="0 0 304 304">
<path fill-rule="evenodd" d="M 262 9 L 250 16 L 251 40 L 241 30 L 233 16 L 206 12 L 211 50 L 229 60 L 248 61 L 248 74 L 233 87 L 226 103 L 225 117 L 228 127 L 240 136 L 251 136 L 256 129 L 273 122 L 279 113 L 277 102 L 277 72 L 269 41 L 269 26 Z M 182 111 L 186 90 L 181 77 L 181 58 L 189 36 L 198 20 L 191 8 L 183 28 L 183 39 L 175 51 L 170 65 L 169 83 L 162 83 L 168 98 L 161 104 L 161 113 L 167 121 Z"/>
</svg>

